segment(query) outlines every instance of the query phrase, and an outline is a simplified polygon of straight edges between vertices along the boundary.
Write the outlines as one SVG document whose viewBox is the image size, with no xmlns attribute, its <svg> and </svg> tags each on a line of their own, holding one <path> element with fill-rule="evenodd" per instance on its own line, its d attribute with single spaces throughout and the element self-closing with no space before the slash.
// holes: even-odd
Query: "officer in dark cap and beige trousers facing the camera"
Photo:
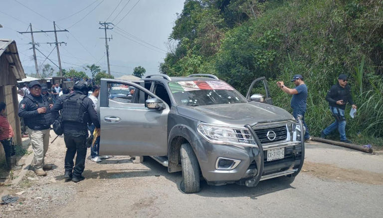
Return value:
<svg viewBox="0 0 383 218">
<path fill-rule="evenodd" d="M 42 97 L 39 82 L 30 82 L 29 92 L 30 94 L 24 96 L 20 102 L 18 116 L 24 118 L 27 126 L 34 153 L 34 172 L 37 176 L 46 176 L 45 170 L 52 169 L 52 166 L 44 165 L 44 157 L 49 145 L 50 125 L 54 121 L 50 111 L 53 105 Z"/>
</svg>

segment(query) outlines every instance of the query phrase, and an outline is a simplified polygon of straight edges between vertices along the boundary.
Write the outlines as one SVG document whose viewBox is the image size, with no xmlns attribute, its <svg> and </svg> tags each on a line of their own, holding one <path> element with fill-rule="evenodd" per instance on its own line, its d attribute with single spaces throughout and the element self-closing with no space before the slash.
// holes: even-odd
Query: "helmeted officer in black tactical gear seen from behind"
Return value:
<svg viewBox="0 0 383 218">
<path fill-rule="evenodd" d="M 88 95 L 88 84 L 86 81 L 77 81 L 74 92 L 60 98 L 52 108 L 52 112 L 58 117 L 58 111 L 62 109 L 61 119 L 64 130 L 64 141 L 66 145 L 65 155 L 65 179 L 72 179 L 77 183 L 84 179 L 82 173 L 85 168 L 85 156 L 88 137 L 87 123 L 94 123 L 100 128 L 97 113 L 93 102 Z M 77 153 L 76 164 L 73 167 L 73 158 Z"/>
</svg>

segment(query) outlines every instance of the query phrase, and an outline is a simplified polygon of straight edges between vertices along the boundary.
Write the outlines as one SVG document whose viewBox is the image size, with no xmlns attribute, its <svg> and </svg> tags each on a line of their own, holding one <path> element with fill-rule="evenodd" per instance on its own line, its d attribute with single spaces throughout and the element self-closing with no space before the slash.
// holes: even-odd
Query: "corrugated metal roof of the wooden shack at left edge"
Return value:
<svg viewBox="0 0 383 218">
<path fill-rule="evenodd" d="M 22 68 L 20 58 L 18 56 L 16 42 L 11 39 L 0 39 L 0 56 L 5 55 L 8 60 L 10 69 L 17 80 L 25 78 L 24 69 Z"/>
</svg>

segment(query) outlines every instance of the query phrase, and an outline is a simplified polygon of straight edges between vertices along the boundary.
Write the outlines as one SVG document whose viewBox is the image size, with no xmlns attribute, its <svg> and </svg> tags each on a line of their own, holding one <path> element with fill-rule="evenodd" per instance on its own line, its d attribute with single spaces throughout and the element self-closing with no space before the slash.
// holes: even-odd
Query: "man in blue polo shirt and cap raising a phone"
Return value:
<svg viewBox="0 0 383 218">
<path fill-rule="evenodd" d="M 291 98 L 291 108 L 293 109 L 293 117 L 297 119 L 298 115 L 302 115 L 303 125 L 306 127 L 305 141 L 310 140 L 309 129 L 305 122 L 306 102 L 307 102 L 307 86 L 300 74 L 294 75 L 291 82 L 294 82 L 295 88 L 291 89 L 285 86 L 283 81 L 277 82 L 278 87 L 287 94 L 293 95 Z"/>
</svg>

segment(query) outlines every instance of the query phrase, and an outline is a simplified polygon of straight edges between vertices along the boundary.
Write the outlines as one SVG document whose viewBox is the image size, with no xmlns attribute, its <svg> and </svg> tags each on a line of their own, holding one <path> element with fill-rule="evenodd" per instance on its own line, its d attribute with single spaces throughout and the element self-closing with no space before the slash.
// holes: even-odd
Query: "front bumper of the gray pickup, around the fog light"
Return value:
<svg viewBox="0 0 383 218">
<path fill-rule="evenodd" d="M 260 153 L 256 147 L 212 144 L 203 138 L 199 138 L 194 143 L 199 144 L 196 148 L 202 148 L 196 149 L 195 152 L 202 176 L 210 185 L 238 183 L 252 186 L 252 183 L 246 181 L 250 181 L 259 175 L 260 166 L 258 166 L 256 160 L 259 159 Z M 285 157 L 268 162 L 267 151 L 275 148 L 283 148 Z M 288 141 L 263 146 L 263 157 L 263 170 L 260 181 L 297 173 L 302 160 L 302 142 Z M 219 158 L 239 160 L 240 162 L 232 170 L 217 170 L 216 163 Z"/>
</svg>

